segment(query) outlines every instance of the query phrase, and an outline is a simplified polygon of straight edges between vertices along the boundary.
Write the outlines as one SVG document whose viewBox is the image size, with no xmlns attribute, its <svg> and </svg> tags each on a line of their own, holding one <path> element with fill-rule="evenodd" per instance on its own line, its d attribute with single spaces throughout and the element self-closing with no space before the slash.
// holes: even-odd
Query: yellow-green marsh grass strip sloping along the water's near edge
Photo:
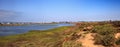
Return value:
<svg viewBox="0 0 120 47">
<path fill-rule="evenodd" d="M 64 37 L 64 30 L 69 26 L 50 30 L 32 30 L 25 34 L 0 37 L 1 47 L 54 47 Z M 62 42 L 62 41 L 61 41 Z M 61 44 L 59 44 L 61 45 Z M 57 45 L 58 46 L 58 45 Z"/>
</svg>

